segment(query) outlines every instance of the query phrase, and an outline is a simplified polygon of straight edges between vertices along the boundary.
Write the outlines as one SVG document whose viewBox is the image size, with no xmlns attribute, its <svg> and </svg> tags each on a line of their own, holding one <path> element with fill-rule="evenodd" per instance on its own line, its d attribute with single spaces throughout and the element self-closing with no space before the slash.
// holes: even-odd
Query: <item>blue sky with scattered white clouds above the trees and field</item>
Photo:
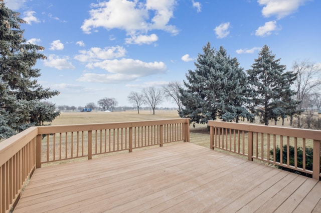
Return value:
<svg viewBox="0 0 321 213">
<path fill-rule="evenodd" d="M 321 0 L 5 0 L 28 23 L 27 42 L 45 47 L 38 82 L 56 105 L 97 104 L 144 87 L 186 80 L 207 42 L 251 68 L 263 45 L 291 70 L 321 65 Z M 163 107 L 175 107 L 164 101 Z"/>
</svg>

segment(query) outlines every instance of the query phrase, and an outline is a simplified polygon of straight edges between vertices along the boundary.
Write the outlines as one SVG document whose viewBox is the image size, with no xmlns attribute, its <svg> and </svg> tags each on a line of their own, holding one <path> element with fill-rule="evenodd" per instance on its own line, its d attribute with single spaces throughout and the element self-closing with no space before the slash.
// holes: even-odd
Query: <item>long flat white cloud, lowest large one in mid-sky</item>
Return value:
<svg viewBox="0 0 321 213">
<path fill-rule="evenodd" d="M 167 69 L 164 62 L 144 62 L 130 58 L 120 60 L 104 60 L 89 63 L 87 68 L 101 68 L 108 71 L 107 74 L 84 73 L 78 80 L 100 83 L 117 83 L 136 80 L 139 77 L 164 73 Z"/>
</svg>

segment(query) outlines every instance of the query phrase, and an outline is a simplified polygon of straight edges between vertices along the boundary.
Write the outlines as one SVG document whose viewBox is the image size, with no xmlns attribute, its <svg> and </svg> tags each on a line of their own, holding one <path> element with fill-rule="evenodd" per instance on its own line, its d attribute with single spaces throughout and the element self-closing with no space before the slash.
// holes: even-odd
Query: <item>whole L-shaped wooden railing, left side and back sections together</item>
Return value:
<svg viewBox="0 0 321 213">
<path fill-rule="evenodd" d="M 0 143 L 0 212 L 42 163 L 190 140 L 188 118 L 31 127 Z"/>
</svg>

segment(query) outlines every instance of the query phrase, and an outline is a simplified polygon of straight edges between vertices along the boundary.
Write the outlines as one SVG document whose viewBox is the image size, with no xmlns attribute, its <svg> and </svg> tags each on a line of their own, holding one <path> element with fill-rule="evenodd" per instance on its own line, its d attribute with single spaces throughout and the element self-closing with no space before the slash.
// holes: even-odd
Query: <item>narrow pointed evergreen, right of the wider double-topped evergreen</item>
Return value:
<svg viewBox="0 0 321 213">
<path fill-rule="evenodd" d="M 293 115 L 293 105 L 297 102 L 291 96 L 290 89 L 296 78 L 293 72 L 284 70 L 285 65 L 264 45 L 257 59 L 254 59 L 252 69 L 248 69 L 248 83 L 251 90 L 251 111 L 263 117 L 262 122 L 269 124 L 269 119 L 275 121 L 279 116 Z"/>
</svg>

